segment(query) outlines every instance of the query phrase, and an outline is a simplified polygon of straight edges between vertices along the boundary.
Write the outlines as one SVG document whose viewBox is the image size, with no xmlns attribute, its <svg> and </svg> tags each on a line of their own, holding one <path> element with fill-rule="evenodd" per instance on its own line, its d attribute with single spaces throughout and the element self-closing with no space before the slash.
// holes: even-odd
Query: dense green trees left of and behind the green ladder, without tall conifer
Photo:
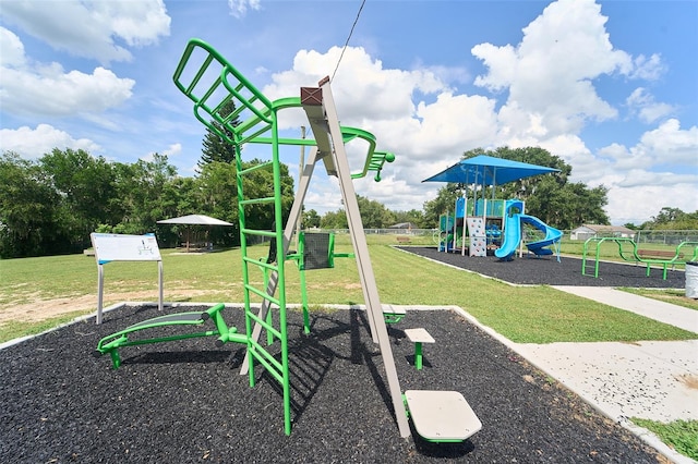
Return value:
<svg viewBox="0 0 698 464">
<path fill-rule="evenodd" d="M 249 168 L 261 162 L 253 159 Z M 293 203 L 293 179 L 281 167 L 284 208 Z M 269 170 L 254 171 L 250 192 L 272 185 Z M 261 192 L 258 196 L 264 196 Z M 254 206 L 252 207 L 254 208 Z M 92 232 L 156 232 L 163 246 L 180 240 L 183 225 L 157 225 L 172 217 L 202 213 L 232 223 L 213 228 L 207 241 L 239 243 L 236 166 L 210 161 L 182 178 L 167 156 L 135 163 L 110 162 L 84 150 L 53 149 L 36 161 L 4 152 L 0 158 L 0 257 L 82 253 Z M 268 208 L 251 211 L 248 225 L 270 228 Z"/>
</svg>

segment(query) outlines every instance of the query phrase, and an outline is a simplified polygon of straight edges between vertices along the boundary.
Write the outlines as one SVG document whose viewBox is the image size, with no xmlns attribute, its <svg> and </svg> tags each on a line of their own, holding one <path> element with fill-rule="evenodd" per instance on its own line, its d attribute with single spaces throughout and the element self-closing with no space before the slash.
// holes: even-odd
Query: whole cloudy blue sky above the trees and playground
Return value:
<svg viewBox="0 0 698 464">
<path fill-rule="evenodd" d="M 0 150 L 159 152 L 194 175 L 205 132 L 171 78 L 186 40 L 208 41 L 270 98 L 298 96 L 334 73 L 360 7 L 0 0 Z M 464 151 L 540 146 L 573 181 L 609 188 L 614 224 L 696 211 L 696 24 L 694 0 L 368 0 L 332 88 L 342 124 L 397 159 L 357 192 L 421 209 L 442 186 L 421 181 Z M 284 152 L 294 173 L 298 157 Z M 317 176 L 306 208 L 340 208 L 336 180 Z"/>
</svg>

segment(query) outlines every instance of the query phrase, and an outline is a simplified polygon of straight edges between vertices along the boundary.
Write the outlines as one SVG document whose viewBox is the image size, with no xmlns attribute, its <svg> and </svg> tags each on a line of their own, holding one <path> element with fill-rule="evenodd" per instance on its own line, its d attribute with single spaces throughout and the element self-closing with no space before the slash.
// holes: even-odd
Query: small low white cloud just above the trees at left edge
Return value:
<svg viewBox="0 0 698 464">
<path fill-rule="evenodd" d="M 75 139 L 70 134 L 48 124 L 38 124 L 36 129 L 22 126 L 16 130 L 0 129 L 0 151 L 15 151 L 23 158 L 40 158 L 58 149 L 83 149 L 91 154 L 101 147 L 87 138 Z"/>
</svg>

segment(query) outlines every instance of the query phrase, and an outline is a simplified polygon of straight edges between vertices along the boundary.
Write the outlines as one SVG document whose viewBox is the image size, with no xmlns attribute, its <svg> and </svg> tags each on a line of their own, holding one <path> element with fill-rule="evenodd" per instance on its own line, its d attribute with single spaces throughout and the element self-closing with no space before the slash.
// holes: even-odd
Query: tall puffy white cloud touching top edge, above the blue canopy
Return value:
<svg viewBox="0 0 698 464">
<path fill-rule="evenodd" d="M 599 97 L 592 81 L 629 72 L 631 60 L 613 49 L 605 22 L 591 0 L 561 0 L 524 28 L 518 47 L 481 44 L 472 48 L 488 66 L 476 85 L 493 91 L 508 89 L 500 119 L 509 136 L 579 133 L 587 120 L 616 117 L 616 109 Z"/>
</svg>

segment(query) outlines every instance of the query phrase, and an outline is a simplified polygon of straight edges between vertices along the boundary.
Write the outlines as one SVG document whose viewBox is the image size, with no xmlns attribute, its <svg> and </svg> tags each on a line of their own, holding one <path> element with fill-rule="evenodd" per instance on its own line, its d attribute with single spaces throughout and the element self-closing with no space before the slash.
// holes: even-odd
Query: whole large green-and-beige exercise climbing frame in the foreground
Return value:
<svg viewBox="0 0 698 464">
<path fill-rule="evenodd" d="M 287 257 L 292 258 L 293 254 L 289 253 L 290 240 L 297 219 L 302 212 L 303 200 L 315 164 L 322 160 L 327 174 L 336 176 L 339 181 L 353 245 L 353 256 L 357 260 L 364 295 L 369 329 L 373 342 L 377 343 L 380 347 L 385 369 L 384 380 L 392 399 L 400 436 L 407 438 L 411 435 L 408 418 L 412 419 L 419 435 L 430 441 L 462 441 L 477 432 L 482 425 L 459 392 L 412 390 L 402 394 L 400 390 L 386 328 L 386 316 L 380 301 L 352 184 L 353 179 L 363 178 L 369 172 L 374 173 L 375 180 L 378 181 L 384 163 L 392 162 L 394 155 L 377 151 L 373 134 L 360 129 L 339 125 L 329 78 L 322 80 L 317 87 L 301 87 L 300 98 L 281 98 L 272 101 L 208 44 L 192 39 L 184 49 L 173 81 L 176 86 L 194 102 L 194 115 L 221 139 L 231 144 L 236 150 L 245 330 L 242 334 L 238 333 L 237 329 L 227 327 L 220 316 L 222 308 L 219 305 L 206 310 L 207 316 L 183 314 L 181 318 L 186 320 L 183 322 L 176 321 L 178 315 L 172 315 L 170 319 L 166 319 L 167 316 L 164 316 L 146 321 L 144 325 L 183 323 L 198 326 L 206 319 L 213 319 L 216 322 L 216 330 L 203 332 L 204 334 L 217 335 L 218 343 L 231 341 L 245 344 L 246 355 L 240 374 L 248 375 L 250 387 L 255 384 L 257 378 L 255 368 L 257 367 L 266 369 L 269 377 L 278 381 L 284 403 L 284 429 L 287 435 L 290 434 L 291 396 L 285 262 Z M 224 108 L 229 108 L 231 102 L 236 109 L 231 113 L 222 112 Z M 281 137 L 279 113 L 282 110 L 293 108 L 305 112 L 313 138 Z M 233 124 L 237 120 L 242 122 Z M 353 173 L 350 171 L 346 152 L 346 144 L 349 143 L 362 143 L 366 146 L 363 169 Z M 266 147 L 269 150 L 269 160 L 245 169 L 242 164 L 242 148 L 248 145 Z M 287 218 L 284 217 L 281 208 L 279 154 L 282 146 L 311 147 L 310 156 L 301 170 L 294 202 Z M 246 183 L 250 174 L 258 169 L 270 170 L 274 183 L 264 196 L 251 197 Z M 252 229 L 246 225 L 248 215 L 251 213 L 250 210 L 253 206 L 270 208 L 274 218 L 272 230 Z M 249 243 L 258 237 L 270 239 L 272 249 L 266 260 L 250 256 Z M 332 261 L 329 239 L 327 249 L 325 264 L 329 265 Z M 298 262 L 300 264 L 300 261 Z M 308 261 L 304 260 L 301 266 L 305 269 L 306 265 Z M 252 277 L 255 271 L 258 272 L 260 268 L 266 276 L 264 288 L 260 288 L 256 283 L 257 280 Z M 253 300 L 262 301 L 261 305 L 257 305 L 258 310 L 255 310 Z M 393 314 L 389 318 L 399 319 L 399 316 Z M 140 325 L 132 326 L 133 330 L 131 331 L 137 331 L 137 326 Z M 262 331 L 267 333 L 267 341 L 273 341 L 275 346 L 280 349 L 280 353 L 274 354 L 268 345 L 260 342 Z M 116 345 L 122 343 L 120 346 L 125 346 L 122 337 L 127 337 L 128 333 L 130 332 L 115 334 L 116 340 L 122 341 L 116 342 Z M 104 344 L 100 342 L 100 349 L 104 351 L 116 346 L 109 343 L 109 341 Z M 112 350 L 110 353 L 115 351 Z"/>
</svg>

